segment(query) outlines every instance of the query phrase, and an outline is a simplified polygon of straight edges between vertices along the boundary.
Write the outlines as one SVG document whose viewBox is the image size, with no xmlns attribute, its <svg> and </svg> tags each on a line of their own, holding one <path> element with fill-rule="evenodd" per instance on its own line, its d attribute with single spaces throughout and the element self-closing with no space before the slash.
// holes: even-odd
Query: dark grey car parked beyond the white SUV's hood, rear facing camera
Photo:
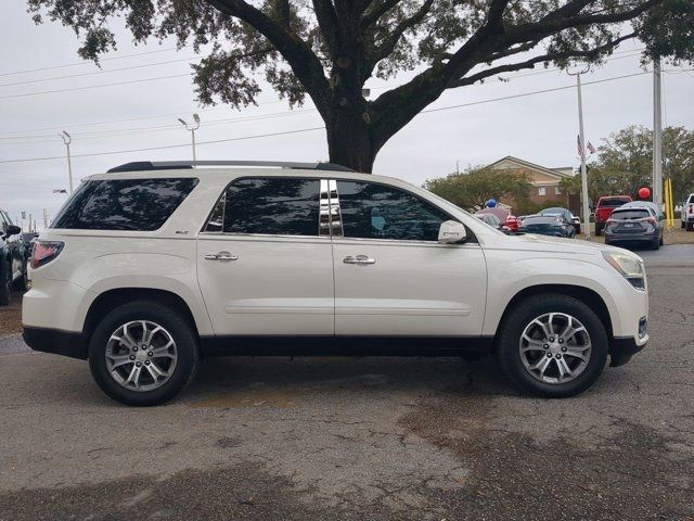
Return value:
<svg viewBox="0 0 694 521">
<path fill-rule="evenodd" d="M 653 203 L 627 203 L 612 213 L 605 226 L 605 244 L 647 245 L 657 250 L 663 244 L 663 214 Z"/>
</svg>

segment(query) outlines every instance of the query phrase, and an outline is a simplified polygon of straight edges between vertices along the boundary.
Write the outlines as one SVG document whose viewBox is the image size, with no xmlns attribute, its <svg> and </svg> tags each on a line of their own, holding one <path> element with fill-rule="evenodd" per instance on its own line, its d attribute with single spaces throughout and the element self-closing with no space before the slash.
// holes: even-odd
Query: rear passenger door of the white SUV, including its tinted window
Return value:
<svg viewBox="0 0 694 521">
<path fill-rule="evenodd" d="M 197 241 L 216 335 L 332 335 L 333 257 L 318 179 L 233 181 Z"/>
</svg>

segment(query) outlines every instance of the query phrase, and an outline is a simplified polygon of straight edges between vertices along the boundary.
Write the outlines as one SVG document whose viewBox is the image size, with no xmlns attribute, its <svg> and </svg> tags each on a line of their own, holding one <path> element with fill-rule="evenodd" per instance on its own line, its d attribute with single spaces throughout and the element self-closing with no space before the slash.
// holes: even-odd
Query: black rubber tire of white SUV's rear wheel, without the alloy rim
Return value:
<svg viewBox="0 0 694 521">
<path fill-rule="evenodd" d="M 151 391 L 124 387 L 108 372 L 106 345 L 120 326 L 129 321 L 147 320 L 162 326 L 176 342 L 178 358 L 169 379 Z M 156 301 L 134 301 L 116 307 L 99 322 L 89 341 L 89 367 L 94 380 L 111 398 L 125 405 L 153 406 L 168 402 L 192 380 L 200 359 L 198 339 L 190 320 Z"/>
</svg>

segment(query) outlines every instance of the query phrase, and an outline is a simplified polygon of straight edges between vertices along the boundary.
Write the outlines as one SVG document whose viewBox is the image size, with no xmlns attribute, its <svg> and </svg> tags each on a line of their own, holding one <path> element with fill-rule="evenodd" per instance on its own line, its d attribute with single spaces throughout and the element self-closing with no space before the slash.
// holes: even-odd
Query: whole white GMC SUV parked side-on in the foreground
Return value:
<svg viewBox="0 0 694 521">
<path fill-rule="evenodd" d="M 522 389 L 570 396 L 648 340 L 637 255 L 506 236 L 330 164 L 92 176 L 41 233 L 30 278 L 27 344 L 89 359 L 130 405 L 171 398 L 213 355 L 491 353 Z"/>
</svg>

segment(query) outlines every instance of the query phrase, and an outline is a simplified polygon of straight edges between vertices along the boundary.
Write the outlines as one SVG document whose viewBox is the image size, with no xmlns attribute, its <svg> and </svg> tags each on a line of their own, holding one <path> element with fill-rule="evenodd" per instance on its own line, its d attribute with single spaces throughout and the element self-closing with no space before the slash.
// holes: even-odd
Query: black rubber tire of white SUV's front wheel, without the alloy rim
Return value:
<svg viewBox="0 0 694 521">
<path fill-rule="evenodd" d="M 586 368 L 565 383 L 545 383 L 534 378 L 520 358 L 519 341 L 526 326 L 548 313 L 575 317 L 590 335 L 592 351 Z M 607 361 L 607 333 L 600 318 L 581 301 L 568 295 L 544 293 L 516 303 L 507 313 L 497 334 L 496 354 L 503 372 L 523 391 L 548 398 L 565 398 L 582 393 L 600 378 Z"/>
</svg>

